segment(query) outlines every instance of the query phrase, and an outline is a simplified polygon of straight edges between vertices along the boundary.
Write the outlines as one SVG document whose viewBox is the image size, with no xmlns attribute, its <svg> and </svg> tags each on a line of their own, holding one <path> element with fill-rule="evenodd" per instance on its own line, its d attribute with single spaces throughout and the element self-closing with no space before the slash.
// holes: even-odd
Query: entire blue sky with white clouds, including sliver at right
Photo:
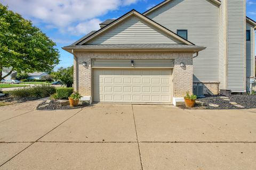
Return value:
<svg viewBox="0 0 256 170">
<path fill-rule="evenodd" d="M 0 0 L 9 9 L 31 20 L 56 44 L 60 63 L 55 66 L 73 65 L 73 55 L 61 49 L 74 43 L 92 30 L 100 29 L 99 23 L 116 19 L 135 9 L 141 13 L 164 0 Z M 256 21 L 256 0 L 246 0 L 246 13 Z"/>
</svg>

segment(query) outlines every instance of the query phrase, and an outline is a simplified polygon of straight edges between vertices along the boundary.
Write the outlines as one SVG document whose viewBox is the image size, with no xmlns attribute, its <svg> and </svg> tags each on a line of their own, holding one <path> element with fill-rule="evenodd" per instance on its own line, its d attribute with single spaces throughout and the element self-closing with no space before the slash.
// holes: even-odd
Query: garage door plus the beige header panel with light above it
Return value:
<svg viewBox="0 0 256 170">
<path fill-rule="evenodd" d="M 172 103 L 173 60 L 93 60 L 93 101 Z"/>
</svg>

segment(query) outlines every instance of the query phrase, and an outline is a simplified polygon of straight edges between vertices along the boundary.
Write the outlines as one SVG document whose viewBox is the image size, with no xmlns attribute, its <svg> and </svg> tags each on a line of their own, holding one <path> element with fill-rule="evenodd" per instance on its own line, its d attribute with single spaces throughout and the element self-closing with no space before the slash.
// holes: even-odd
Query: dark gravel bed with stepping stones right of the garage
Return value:
<svg viewBox="0 0 256 170">
<path fill-rule="evenodd" d="M 226 100 L 225 100 L 226 99 Z M 227 101 L 230 100 L 230 101 Z M 224 96 L 207 96 L 205 98 L 199 98 L 197 101 L 201 101 L 206 106 L 196 104 L 193 108 L 187 108 L 185 105 L 179 106 L 182 109 L 249 109 L 256 108 L 256 95 L 231 95 Z M 234 104 L 241 105 L 243 107 L 237 107 Z M 218 105 L 213 107 L 210 105 Z"/>
</svg>

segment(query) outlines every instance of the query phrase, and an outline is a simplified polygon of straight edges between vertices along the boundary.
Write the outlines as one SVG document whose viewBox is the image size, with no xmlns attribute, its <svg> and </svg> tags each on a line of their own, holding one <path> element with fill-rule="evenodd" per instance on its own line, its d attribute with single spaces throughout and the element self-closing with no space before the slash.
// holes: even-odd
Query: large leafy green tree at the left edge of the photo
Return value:
<svg viewBox="0 0 256 170">
<path fill-rule="evenodd" d="M 18 73 L 51 71 L 59 63 L 56 44 L 31 21 L 0 4 L 0 80 Z M 3 68 L 11 68 L 3 76 Z"/>
</svg>

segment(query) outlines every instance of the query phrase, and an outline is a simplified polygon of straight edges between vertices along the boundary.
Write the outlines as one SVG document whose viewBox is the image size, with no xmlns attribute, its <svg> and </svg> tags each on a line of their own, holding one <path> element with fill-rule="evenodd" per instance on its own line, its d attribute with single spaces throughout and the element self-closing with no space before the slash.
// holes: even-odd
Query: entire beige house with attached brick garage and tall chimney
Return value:
<svg viewBox="0 0 256 170">
<path fill-rule="evenodd" d="M 74 88 L 102 103 L 172 103 L 186 92 L 246 92 L 256 22 L 244 0 L 166 0 L 100 24 L 70 46 Z"/>
</svg>

